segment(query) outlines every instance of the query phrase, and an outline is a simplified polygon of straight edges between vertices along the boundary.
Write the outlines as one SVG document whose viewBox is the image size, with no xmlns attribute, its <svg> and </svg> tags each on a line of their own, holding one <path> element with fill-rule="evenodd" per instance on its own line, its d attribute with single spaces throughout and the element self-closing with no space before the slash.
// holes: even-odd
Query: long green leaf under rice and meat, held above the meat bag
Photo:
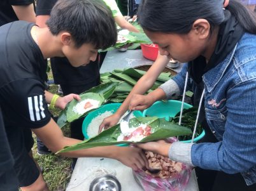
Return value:
<svg viewBox="0 0 256 191">
<path fill-rule="evenodd" d="M 137 126 L 138 124 L 148 124 L 151 126 L 153 133 L 149 136 L 146 136 L 141 141 L 136 143 L 145 143 L 151 142 L 155 140 L 160 140 L 163 138 L 167 138 L 170 136 L 180 136 L 180 135 L 190 135 L 192 131 L 184 126 L 179 126 L 174 122 L 166 121 L 165 119 L 159 119 L 158 117 L 138 117 L 132 118 L 129 121 L 129 126 Z M 60 152 L 69 152 L 73 150 L 80 150 L 83 148 L 92 148 L 99 146 L 108 146 L 108 145 L 117 145 L 122 143 L 132 143 L 128 141 L 117 142 L 117 137 L 120 135 L 120 124 L 113 126 L 106 131 L 103 131 L 97 136 L 90 138 L 89 140 L 85 140 L 76 145 L 72 145 L 69 147 L 64 147 L 57 153 Z M 134 142 L 133 142 L 134 143 Z"/>
</svg>

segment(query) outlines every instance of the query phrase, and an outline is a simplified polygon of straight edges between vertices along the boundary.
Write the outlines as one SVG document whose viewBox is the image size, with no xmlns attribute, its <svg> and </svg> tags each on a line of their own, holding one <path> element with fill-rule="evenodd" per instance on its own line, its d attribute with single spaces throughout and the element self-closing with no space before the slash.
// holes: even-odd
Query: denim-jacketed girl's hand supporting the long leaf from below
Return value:
<svg viewBox="0 0 256 191">
<path fill-rule="evenodd" d="M 166 143 L 164 140 L 159 140 L 157 142 L 137 143 L 136 145 L 143 150 L 148 150 L 153 153 L 163 155 L 164 157 L 169 157 L 169 148 L 171 147 L 171 143 Z"/>
</svg>

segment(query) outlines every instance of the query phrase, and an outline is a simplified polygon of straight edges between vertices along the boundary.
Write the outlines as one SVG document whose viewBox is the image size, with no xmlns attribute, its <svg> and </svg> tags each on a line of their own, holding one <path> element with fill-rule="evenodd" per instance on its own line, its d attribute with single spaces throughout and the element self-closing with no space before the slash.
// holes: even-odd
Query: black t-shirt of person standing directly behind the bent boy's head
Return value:
<svg viewBox="0 0 256 191">
<path fill-rule="evenodd" d="M 36 15 L 50 15 L 57 0 L 38 0 Z M 82 86 L 99 81 L 99 60 L 86 66 L 73 67 L 67 58 L 51 58 L 52 73 L 55 84 Z M 85 89 L 86 90 L 86 89 Z"/>
</svg>

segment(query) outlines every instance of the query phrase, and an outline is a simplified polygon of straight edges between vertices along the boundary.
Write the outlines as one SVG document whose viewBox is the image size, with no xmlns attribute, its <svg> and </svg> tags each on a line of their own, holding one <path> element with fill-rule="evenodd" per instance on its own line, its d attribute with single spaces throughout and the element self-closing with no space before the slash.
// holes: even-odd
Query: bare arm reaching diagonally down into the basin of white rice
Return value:
<svg viewBox="0 0 256 191">
<path fill-rule="evenodd" d="M 107 129 L 117 124 L 122 115 L 124 115 L 125 112 L 128 110 L 132 95 L 143 95 L 146 91 L 148 91 L 148 89 L 153 86 L 154 82 L 157 80 L 157 77 L 159 77 L 160 73 L 162 72 L 162 70 L 164 70 L 168 62 L 169 58 L 167 58 L 166 56 L 157 56 L 157 60 L 155 60 L 155 62 L 146 72 L 146 74 L 144 74 L 136 83 L 134 88 L 132 88 L 132 91 L 129 93 L 129 95 L 119 107 L 117 112 L 115 112 L 115 114 L 111 115 L 110 117 L 106 117 L 106 119 L 104 119 L 104 121 L 99 126 L 99 132 L 101 132 L 103 128 Z"/>
</svg>

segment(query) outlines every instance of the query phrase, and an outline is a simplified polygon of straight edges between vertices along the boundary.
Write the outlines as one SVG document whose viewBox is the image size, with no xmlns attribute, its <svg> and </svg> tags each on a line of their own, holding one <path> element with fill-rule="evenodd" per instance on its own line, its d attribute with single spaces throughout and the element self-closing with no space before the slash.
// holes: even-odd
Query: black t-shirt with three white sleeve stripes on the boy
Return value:
<svg viewBox="0 0 256 191">
<path fill-rule="evenodd" d="M 0 105 L 6 128 L 40 128 L 50 121 L 45 101 L 46 64 L 24 21 L 0 27 Z"/>
</svg>

